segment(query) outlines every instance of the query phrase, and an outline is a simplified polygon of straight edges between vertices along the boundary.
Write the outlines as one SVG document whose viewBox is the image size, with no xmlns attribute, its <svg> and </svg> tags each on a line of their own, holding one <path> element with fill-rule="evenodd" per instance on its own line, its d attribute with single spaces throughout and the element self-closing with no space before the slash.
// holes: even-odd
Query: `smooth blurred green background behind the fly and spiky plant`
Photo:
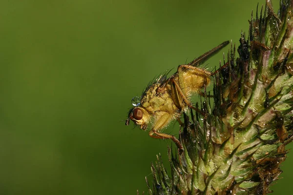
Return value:
<svg viewBox="0 0 293 195">
<path fill-rule="evenodd" d="M 142 194 L 158 153 L 168 166 L 171 142 L 125 126 L 131 98 L 159 73 L 175 72 L 224 40 L 238 46 L 256 5 L 1 1 L 0 194 Z M 214 67 L 220 59 L 208 62 Z M 275 194 L 290 190 L 288 156 Z"/>
</svg>

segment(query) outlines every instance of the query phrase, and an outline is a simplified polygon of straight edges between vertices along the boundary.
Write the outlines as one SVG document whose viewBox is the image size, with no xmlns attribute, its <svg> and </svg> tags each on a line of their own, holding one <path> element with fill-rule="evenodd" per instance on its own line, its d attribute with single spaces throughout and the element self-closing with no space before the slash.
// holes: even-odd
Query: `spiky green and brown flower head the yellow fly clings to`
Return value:
<svg viewBox="0 0 293 195">
<path fill-rule="evenodd" d="M 213 98 L 199 103 L 202 117 L 184 115 L 183 153 L 168 148 L 171 175 L 158 156 L 151 165 L 151 195 L 270 193 L 282 173 L 285 145 L 293 139 L 293 0 L 281 0 L 276 15 L 267 0 L 249 34 L 241 33 L 214 77 Z M 213 107 L 211 103 L 213 101 Z M 198 104 L 197 104 L 198 106 Z M 199 106 L 198 106 L 199 107 Z"/>
</svg>

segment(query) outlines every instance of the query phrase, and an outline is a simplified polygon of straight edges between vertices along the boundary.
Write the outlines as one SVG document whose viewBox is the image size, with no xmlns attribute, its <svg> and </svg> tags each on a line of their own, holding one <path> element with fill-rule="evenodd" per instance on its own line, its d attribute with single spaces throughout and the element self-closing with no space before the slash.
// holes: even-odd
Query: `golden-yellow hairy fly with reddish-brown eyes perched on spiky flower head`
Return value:
<svg viewBox="0 0 293 195">
<path fill-rule="evenodd" d="M 168 72 L 166 72 L 154 79 L 147 85 L 140 98 L 132 98 L 133 107 L 128 112 L 126 125 L 129 124 L 130 120 L 143 130 L 146 130 L 147 126 L 150 125 L 150 137 L 172 139 L 177 147 L 183 150 L 176 137 L 161 131 L 172 120 L 180 121 L 179 118 L 188 109 L 198 111 L 192 106 L 190 97 L 199 94 L 204 86 L 208 86 L 210 76 L 214 73 L 198 68 L 196 65 L 203 63 L 228 43 L 229 41 L 225 41 L 190 63 L 179 65 L 177 72 L 169 78 L 167 78 Z"/>
</svg>

